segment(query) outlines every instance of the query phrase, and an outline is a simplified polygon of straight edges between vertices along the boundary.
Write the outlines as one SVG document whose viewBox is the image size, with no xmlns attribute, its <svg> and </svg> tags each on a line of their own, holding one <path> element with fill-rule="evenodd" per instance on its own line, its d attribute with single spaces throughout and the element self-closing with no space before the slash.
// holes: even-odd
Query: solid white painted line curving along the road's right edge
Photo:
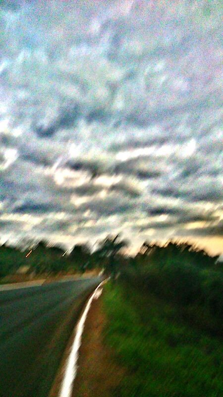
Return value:
<svg viewBox="0 0 223 397">
<path fill-rule="evenodd" d="M 84 309 L 84 312 L 77 324 L 76 333 L 74 337 L 74 341 L 70 350 L 70 354 L 65 364 L 64 377 L 60 389 L 60 394 L 58 397 L 70 397 L 73 390 L 73 381 L 77 374 L 77 360 L 78 360 L 78 351 L 81 345 L 81 336 L 84 329 L 84 323 L 87 318 L 88 311 L 91 307 L 93 299 L 98 299 L 102 293 L 101 286 L 105 284 L 107 280 L 102 281 L 99 286 L 94 290 L 93 294 L 88 300 L 88 303 Z"/>
</svg>

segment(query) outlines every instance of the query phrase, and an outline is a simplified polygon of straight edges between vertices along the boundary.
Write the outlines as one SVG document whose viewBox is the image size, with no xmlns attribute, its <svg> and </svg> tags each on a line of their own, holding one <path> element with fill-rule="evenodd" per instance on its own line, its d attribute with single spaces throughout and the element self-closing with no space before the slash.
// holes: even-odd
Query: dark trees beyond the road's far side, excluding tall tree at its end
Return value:
<svg viewBox="0 0 223 397">
<path fill-rule="evenodd" d="M 23 277 L 56 276 L 83 273 L 97 268 L 94 255 L 85 245 L 76 245 L 70 255 L 60 247 L 50 247 L 45 242 L 30 245 L 25 250 L 0 246 L 0 282 L 22 273 Z M 25 278 L 25 277 L 24 277 Z"/>
</svg>

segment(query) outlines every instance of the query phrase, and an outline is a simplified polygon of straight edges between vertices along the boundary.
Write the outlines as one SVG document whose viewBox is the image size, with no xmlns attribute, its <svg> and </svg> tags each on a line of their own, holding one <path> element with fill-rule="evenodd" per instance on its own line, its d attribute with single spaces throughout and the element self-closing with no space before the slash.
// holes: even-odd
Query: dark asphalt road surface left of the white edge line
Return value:
<svg viewBox="0 0 223 397">
<path fill-rule="evenodd" d="M 0 397 L 47 397 L 100 278 L 0 291 Z"/>
</svg>

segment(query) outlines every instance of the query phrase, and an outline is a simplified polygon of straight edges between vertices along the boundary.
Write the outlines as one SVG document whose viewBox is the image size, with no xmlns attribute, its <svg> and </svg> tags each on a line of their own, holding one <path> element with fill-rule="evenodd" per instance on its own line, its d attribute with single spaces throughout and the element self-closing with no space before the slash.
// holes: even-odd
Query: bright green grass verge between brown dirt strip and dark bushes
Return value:
<svg viewBox="0 0 223 397">
<path fill-rule="evenodd" d="M 105 341 L 127 369 L 112 397 L 220 397 L 223 345 L 192 329 L 176 309 L 126 285 L 108 284 Z"/>
</svg>

